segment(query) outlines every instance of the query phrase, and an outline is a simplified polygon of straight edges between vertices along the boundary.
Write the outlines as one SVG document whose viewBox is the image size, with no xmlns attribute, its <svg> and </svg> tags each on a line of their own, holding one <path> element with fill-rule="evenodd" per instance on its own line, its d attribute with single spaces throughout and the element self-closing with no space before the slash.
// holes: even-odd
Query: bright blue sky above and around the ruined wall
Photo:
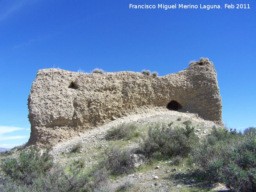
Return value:
<svg viewBox="0 0 256 192">
<path fill-rule="evenodd" d="M 236 9 L 241 2 L 250 9 Z M 223 122 L 237 129 L 256 126 L 255 29 L 255 0 L 0 0 L 0 147 L 28 141 L 31 84 L 37 70 L 53 67 L 149 69 L 163 76 L 207 57 L 217 71 Z"/>
</svg>

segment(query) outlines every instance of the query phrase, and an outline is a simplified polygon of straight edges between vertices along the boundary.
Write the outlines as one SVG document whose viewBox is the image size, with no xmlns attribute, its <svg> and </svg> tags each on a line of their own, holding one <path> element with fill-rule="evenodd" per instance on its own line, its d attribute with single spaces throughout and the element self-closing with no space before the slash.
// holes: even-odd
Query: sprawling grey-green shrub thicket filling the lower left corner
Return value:
<svg viewBox="0 0 256 192">
<path fill-rule="evenodd" d="M 46 149 L 40 152 L 31 146 L 20 152 L 18 158 L 8 158 L 1 164 L 5 173 L 0 180 L 1 191 L 79 191 L 90 188 L 88 177 L 79 167 L 70 167 L 65 173 Z M 87 190 L 90 191 L 90 190 Z"/>
</svg>

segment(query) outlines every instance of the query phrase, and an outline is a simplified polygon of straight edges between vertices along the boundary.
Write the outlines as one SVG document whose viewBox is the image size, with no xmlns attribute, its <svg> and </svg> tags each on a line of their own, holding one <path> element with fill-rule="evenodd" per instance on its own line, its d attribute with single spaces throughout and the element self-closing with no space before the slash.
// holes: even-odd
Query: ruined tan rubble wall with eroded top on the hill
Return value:
<svg viewBox="0 0 256 192">
<path fill-rule="evenodd" d="M 180 111 L 222 123 L 212 62 L 199 60 L 183 71 L 160 77 L 130 71 L 87 74 L 42 69 L 28 98 L 31 134 L 27 145 L 65 140 L 113 116 L 126 116 L 142 106 L 167 106 L 172 100 Z"/>
</svg>

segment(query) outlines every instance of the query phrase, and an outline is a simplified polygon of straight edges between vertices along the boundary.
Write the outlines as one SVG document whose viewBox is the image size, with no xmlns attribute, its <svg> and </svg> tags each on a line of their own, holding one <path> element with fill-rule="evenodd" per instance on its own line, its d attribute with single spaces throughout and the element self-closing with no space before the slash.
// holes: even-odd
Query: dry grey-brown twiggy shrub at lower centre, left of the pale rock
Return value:
<svg viewBox="0 0 256 192">
<path fill-rule="evenodd" d="M 112 175 L 128 174 L 134 170 L 132 154 L 130 149 L 111 147 L 105 150 L 104 160 L 99 165 Z"/>
</svg>

